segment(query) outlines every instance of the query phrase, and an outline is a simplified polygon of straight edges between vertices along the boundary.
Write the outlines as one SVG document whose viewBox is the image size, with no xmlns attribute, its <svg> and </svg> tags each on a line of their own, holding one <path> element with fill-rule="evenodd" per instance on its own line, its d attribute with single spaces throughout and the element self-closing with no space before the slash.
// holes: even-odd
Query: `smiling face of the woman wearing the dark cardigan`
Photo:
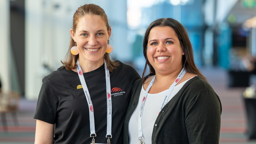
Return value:
<svg viewBox="0 0 256 144">
<path fill-rule="evenodd" d="M 182 68 L 184 52 L 173 28 L 154 27 L 147 43 L 147 58 L 156 72 L 172 73 Z"/>
</svg>

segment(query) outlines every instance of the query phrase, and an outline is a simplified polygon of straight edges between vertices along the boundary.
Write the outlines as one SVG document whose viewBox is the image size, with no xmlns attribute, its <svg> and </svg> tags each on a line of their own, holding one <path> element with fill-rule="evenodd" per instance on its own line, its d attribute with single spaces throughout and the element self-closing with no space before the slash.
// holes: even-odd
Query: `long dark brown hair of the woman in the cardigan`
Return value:
<svg viewBox="0 0 256 144">
<path fill-rule="evenodd" d="M 174 29 L 179 42 L 180 46 L 183 48 L 184 55 L 182 56 L 182 65 L 184 65 L 184 69 L 192 74 L 197 74 L 198 76 L 201 76 L 203 79 L 207 81 L 207 79 L 202 75 L 200 70 L 196 67 L 195 61 L 194 61 L 194 53 L 193 48 L 191 45 L 191 42 L 189 40 L 188 34 L 183 27 L 182 24 L 180 24 L 177 20 L 172 18 L 160 18 L 155 21 L 153 21 L 147 28 L 143 40 L 143 54 L 146 59 L 145 68 L 142 74 L 142 82 L 144 83 L 144 75 L 147 69 L 147 66 L 149 67 L 150 74 L 155 74 L 155 69 L 152 67 L 152 65 L 149 63 L 147 58 L 147 43 L 148 43 L 148 37 L 150 30 L 154 27 L 163 27 L 163 26 L 169 26 Z"/>
</svg>

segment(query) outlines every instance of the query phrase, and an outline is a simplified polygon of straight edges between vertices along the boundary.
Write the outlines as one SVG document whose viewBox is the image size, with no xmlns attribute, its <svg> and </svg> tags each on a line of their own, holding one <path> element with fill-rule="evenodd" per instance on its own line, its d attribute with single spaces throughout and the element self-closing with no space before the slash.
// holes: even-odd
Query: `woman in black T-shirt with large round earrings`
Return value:
<svg viewBox="0 0 256 144">
<path fill-rule="evenodd" d="M 100 6 L 79 7 L 70 33 L 63 66 L 43 79 L 35 143 L 122 143 L 130 91 L 140 76 L 110 59 L 111 27 Z"/>
</svg>

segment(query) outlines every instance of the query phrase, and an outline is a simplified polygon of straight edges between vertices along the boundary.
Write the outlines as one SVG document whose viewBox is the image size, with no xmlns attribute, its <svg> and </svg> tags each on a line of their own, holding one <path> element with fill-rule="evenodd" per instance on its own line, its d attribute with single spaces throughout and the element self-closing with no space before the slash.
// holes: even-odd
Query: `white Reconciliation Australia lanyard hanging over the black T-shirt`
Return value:
<svg viewBox="0 0 256 144">
<path fill-rule="evenodd" d="M 109 75 L 109 70 L 107 68 L 107 65 L 106 65 L 106 60 L 104 59 L 104 64 L 105 64 L 105 75 L 106 75 L 106 99 L 107 99 L 107 106 L 108 106 L 108 109 L 107 109 L 107 134 L 106 134 L 106 137 L 107 136 L 111 136 L 111 137 L 107 137 L 107 138 L 112 138 L 112 135 L 111 135 L 111 124 L 112 124 L 112 102 L 111 102 L 111 88 L 110 88 L 110 75 Z M 77 72 L 78 72 L 78 76 L 79 76 L 79 79 L 80 79 L 80 82 L 82 84 L 82 87 L 83 87 L 83 91 L 84 91 L 84 94 L 86 96 L 86 100 L 87 100 L 87 103 L 88 103 L 88 107 L 89 107 L 89 115 L 90 115 L 90 130 L 91 130 L 91 134 L 95 134 L 95 127 L 94 127 L 94 114 L 93 114 L 93 106 L 92 106 L 92 101 L 91 101 L 91 97 L 90 97 L 90 94 L 89 94 L 89 91 L 88 91 L 88 87 L 86 85 L 86 82 L 84 80 L 84 77 L 83 77 L 83 72 L 82 72 L 82 69 L 79 65 L 79 61 L 77 60 Z M 93 137 L 93 143 L 94 143 L 94 137 L 96 137 L 96 134 L 95 136 L 91 136 Z M 109 139 L 108 139 L 108 142 Z"/>
</svg>

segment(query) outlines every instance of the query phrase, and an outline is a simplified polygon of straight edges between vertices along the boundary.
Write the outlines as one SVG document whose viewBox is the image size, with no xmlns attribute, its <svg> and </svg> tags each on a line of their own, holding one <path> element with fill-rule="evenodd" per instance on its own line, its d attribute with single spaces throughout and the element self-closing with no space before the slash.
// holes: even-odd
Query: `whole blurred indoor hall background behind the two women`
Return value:
<svg viewBox="0 0 256 144">
<path fill-rule="evenodd" d="M 256 0 L 0 0 L 0 144 L 34 142 L 42 79 L 62 65 L 73 14 L 89 3 L 109 18 L 113 58 L 140 75 L 147 26 L 178 20 L 221 99 L 220 143 L 256 143 Z"/>
</svg>

